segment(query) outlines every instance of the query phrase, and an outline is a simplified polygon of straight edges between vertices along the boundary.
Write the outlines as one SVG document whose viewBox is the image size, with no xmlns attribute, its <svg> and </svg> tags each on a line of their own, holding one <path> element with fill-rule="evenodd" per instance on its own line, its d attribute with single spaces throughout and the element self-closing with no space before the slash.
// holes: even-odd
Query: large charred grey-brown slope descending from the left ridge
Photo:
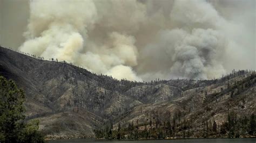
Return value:
<svg viewBox="0 0 256 143">
<path fill-rule="evenodd" d="M 39 118 L 41 129 L 57 136 L 92 137 L 93 128 L 105 120 L 123 116 L 143 104 L 143 98 L 130 96 L 127 90 L 147 86 L 146 83 L 96 75 L 66 62 L 32 58 L 2 47 L 0 74 L 16 81 L 18 87 L 25 90 L 27 119 Z M 157 84 L 150 86 L 161 90 Z M 163 88 L 166 86 L 169 87 Z M 171 92 L 172 96 L 176 91 Z M 157 91 L 151 93 L 154 94 Z M 149 102 L 159 100 L 162 100 L 160 96 Z M 81 124 L 82 120 L 85 123 Z"/>
</svg>

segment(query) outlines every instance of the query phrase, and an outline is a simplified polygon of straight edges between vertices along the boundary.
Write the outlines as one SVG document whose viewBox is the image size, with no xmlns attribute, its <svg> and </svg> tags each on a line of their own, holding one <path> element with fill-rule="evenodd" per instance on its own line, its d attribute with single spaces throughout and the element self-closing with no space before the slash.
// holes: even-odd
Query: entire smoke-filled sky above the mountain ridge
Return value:
<svg viewBox="0 0 256 143">
<path fill-rule="evenodd" d="M 256 69 L 254 0 L 0 0 L 0 42 L 117 79 Z"/>
</svg>

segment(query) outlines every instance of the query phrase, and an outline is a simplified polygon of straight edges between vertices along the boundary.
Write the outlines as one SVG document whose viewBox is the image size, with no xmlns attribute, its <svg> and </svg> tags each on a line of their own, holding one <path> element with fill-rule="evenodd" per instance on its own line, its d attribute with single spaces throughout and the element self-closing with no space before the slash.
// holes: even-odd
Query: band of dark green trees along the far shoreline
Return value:
<svg viewBox="0 0 256 143">
<path fill-rule="evenodd" d="M 113 129 L 112 123 L 95 130 L 96 138 L 98 139 L 165 139 L 165 138 L 190 138 L 194 126 L 191 121 L 183 120 L 180 123 L 176 122 L 178 118 L 174 117 L 172 121 L 167 122 L 152 122 L 145 121 L 144 125 L 129 123 L 128 126 L 121 127 L 118 124 L 116 129 Z M 247 116 L 238 118 L 234 112 L 228 113 L 227 121 L 219 127 L 215 120 L 206 121 L 205 127 L 201 128 L 196 137 L 251 137 L 255 136 L 255 116 L 252 114 L 250 118 Z M 181 133 L 181 134 L 180 134 Z M 251 135 L 251 136 L 250 136 Z"/>
</svg>

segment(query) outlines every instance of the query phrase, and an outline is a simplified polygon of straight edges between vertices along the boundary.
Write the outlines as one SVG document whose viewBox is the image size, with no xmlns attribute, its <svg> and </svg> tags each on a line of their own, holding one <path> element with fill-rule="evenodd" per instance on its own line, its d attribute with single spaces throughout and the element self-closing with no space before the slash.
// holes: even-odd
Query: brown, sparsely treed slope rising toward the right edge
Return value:
<svg viewBox="0 0 256 143">
<path fill-rule="evenodd" d="M 228 84 L 232 84 L 232 82 L 245 85 L 248 83 L 247 81 L 253 82 L 253 85 L 245 86 L 240 91 L 234 87 L 232 87 L 234 90 L 228 88 Z M 231 94 L 233 91 L 236 92 L 233 95 L 234 97 Z M 255 114 L 255 91 L 255 76 L 250 79 L 247 75 L 243 75 L 233 78 L 229 83 L 223 82 L 219 85 L 213 84 L 207 87 L 186 90 L 182 92 L 182 96 L 171 102 L 166 100 L 136 107 L 121 122 L 123 124 L 137 123 L 143 126 L 145 122 L 147 124 L 150 121 L 157 123 L 160 120 L 161 124 L 164 124 L 172 120 L 173 116 L 178 116 L 177 126 L 178 124 L 184 124 L 184 121 L 189 122 L 187 124 L 193 127 L 190 129 L 191 137 L 197 137 L 197 135 L 202 137 L 201 131 L 205 127 L 205 121 L 208 121 L 209 124 L 216 121 L 220 127 L 231 111 L 237 113 L 238 117 Z M 156 126 L 153 125 L 153 127 Z M 178 137 L 183 137 L 181 131 L 181 128 L 177 131 Z"/>
</svg>

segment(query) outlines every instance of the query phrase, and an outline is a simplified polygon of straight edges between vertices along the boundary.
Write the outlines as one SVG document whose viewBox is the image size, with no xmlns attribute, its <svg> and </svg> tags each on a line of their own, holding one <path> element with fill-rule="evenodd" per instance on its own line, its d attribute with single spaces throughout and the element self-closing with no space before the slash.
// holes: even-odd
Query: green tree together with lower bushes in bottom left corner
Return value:
<svg viewBox="0 0 256 143">
<path fill-rule="evenodd" d="M 0 76 L 0 142 L 44 142 L 39 121 L 24 122 L 24 101 L 23 90 Z"/>
</svg>

